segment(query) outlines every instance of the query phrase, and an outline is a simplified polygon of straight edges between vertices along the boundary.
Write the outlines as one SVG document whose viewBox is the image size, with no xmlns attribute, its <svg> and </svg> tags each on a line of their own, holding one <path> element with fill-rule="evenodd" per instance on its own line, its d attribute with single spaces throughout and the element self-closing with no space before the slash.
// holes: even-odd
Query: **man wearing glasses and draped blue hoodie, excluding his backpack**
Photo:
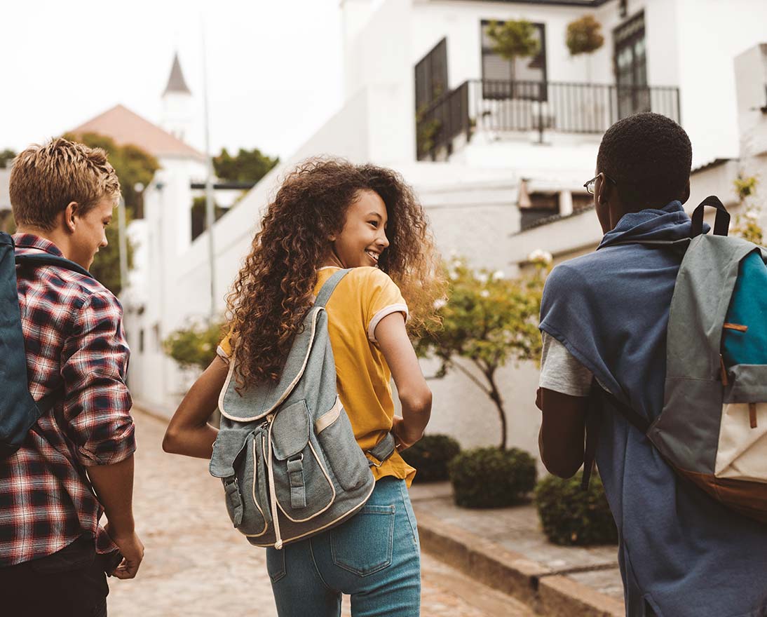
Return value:
<svg viewBox="0 0 767 617">
<path fill-rule="evenodd" d="M 542 299 L 539 445 L 555 475 L 571 477 L 584 462 L 592 381 L 650 421 L 660 414 L 682 254 L 630 242 L 690 236 L 682 204 L 691 160 L 685 131 L 658 114 L 627 117 L 604 134 L 597 176 L 584 185 L 604 238 L 557 266 Z M 620 414 L 602 414 L 596 460 L 620 536 L 629 617 L 767 615 L 767 526 L 677 477 Z"/>
</svg>

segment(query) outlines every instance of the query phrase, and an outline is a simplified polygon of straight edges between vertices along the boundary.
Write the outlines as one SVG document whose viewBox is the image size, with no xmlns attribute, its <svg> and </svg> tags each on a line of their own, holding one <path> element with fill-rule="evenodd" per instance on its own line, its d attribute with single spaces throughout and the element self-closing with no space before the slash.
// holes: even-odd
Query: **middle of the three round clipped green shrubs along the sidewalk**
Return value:
<svg viewBox="0 0 767 617">
<path fill-rule="evenodd" d="M 466 508 L 511 506 L 535 487 L 535 460 L 517 448 L 465 450 L 448 471 L 456 503 Z"/>
</svg>

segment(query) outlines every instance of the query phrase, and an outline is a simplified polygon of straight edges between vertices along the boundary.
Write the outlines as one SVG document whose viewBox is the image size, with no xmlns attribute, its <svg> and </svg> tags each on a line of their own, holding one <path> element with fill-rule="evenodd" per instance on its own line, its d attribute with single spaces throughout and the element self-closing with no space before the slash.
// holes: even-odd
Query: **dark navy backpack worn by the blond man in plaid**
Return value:
<svg viewBox="0 0 767 617">
<path fill-rule="evenodd" d="M 18 308 L 16 266 L 59 266 L 84 276 L 90 272 L 76 263 L 48 253 L 15 255 L 12 236 L 0 232 L 0 457 L 21 447 L 41 414 L 54 406 L 61 391 L 35 402 L 29 394 L 27 355 Z"/>
</svg>

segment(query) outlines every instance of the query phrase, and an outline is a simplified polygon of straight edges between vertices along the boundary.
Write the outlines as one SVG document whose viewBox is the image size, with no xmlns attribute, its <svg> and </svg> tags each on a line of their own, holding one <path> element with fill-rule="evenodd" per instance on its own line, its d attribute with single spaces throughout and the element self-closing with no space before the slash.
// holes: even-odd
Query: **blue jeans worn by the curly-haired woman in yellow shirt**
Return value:
<svg viewBox="0 0 767 617">
<path fill-rule="evenodd" d="M 378 480 L 350 520 L 281 550 L 266 549 L 279 617 L 338 617 L 341 594 L 354 617 L 417 617 L 421 560 L 404 480 Z"/>
</svg>

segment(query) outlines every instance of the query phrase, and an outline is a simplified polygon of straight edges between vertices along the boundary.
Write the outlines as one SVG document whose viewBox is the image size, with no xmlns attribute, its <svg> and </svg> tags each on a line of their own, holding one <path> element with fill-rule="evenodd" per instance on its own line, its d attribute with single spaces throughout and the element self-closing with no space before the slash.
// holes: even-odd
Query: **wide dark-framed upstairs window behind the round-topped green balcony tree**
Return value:
<svg viewBox="0 0 767 617">
<path fill-rule="evenodd" d="M 530 98 L 546 100 L 546 28 L 533 24 L 535 36 L 541 42 L 538 55 L 532 58 L 515 58 L 512 62 L 502 58 L 492 48 L 487 30 L 490 21 L 482 20 L 482 96 L 485 98 Z M 513 68 L 513 71 L 512 71 Z M 512 80 L 515 84 L 512 92 Z"/>
</svg>

